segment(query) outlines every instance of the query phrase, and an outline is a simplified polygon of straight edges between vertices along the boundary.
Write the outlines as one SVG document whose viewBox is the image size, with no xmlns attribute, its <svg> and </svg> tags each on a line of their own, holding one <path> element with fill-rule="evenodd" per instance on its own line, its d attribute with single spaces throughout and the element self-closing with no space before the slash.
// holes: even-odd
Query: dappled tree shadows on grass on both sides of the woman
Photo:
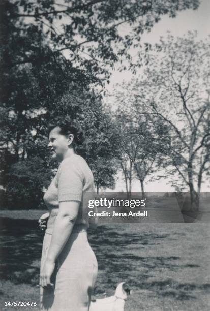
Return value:
<svg viewBox="0 0 210 311">
<path fill-rule="evenodd" d="M 0 218 L 0 227 L 0 277 L 10 279 L 14 284 L 37 285 L 43 241 L 37 220 Z M 179 232 L 179 235 L 185 234 Z M 164 269 L 175 271 L 178 275 L 184 269 L 194 272 L 199 265 L 185 263 L 178 256 L 147 256 L 151 255 L 152 247 L 155 255 L 155 247 L 161 247 L 161 243 L 170 244 L 174 240 L 177 243 L 176 239 L 179 238 L 174 238 L 170 233 L 157 234 L 152 231 L 129 233 L 116 226 L 110 228 L 104 225 L 89 231 L 88 240 L 96 254 L 99 268 L 94 294 L 113 294 L 119 282 L 128 282 L 134 291 L 149 290 L 159 296 L 178 300 L 195 299 L 197 291 L 209 293 L 210 284 L 181 284 L 160 272 Z M 154 278 L 161 281 L 155 281 Z"/>
</svg>

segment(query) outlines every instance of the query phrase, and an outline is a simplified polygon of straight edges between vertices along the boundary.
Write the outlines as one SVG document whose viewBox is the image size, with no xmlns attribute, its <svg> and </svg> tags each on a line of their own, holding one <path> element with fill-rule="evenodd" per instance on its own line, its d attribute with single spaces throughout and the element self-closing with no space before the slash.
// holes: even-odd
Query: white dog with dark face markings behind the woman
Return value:
<svg viewBox="0 0 210 311">
<path fill-rule="evenodd" d="M 123 311 L 125 300 L 130 294 L 128 284 L 121 282 L 117 285 L 114 296 L 92 300 L 89 311 Z"/>
</svg>

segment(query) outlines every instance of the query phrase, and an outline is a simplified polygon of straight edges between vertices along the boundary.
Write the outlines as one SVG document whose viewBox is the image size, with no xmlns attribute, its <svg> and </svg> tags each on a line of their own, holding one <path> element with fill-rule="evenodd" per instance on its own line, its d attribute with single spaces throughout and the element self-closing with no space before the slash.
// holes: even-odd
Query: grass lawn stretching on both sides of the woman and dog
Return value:
<svg viewBox="0 0 210 311">
<path fill-rule="evenodd" d="M 0 212 L 0 310 L 22 309 L 5 301 L 39 305 L 42 213 Z M 209 232 L 208 223 L 100 224 L 88 234 L 99 265 L 94 297 L 113 295 L 125 281 L 133 290 L 125 311 L 209 311 Z M 39 307 L 24 307 L 32 309 Z"/>
</svg>

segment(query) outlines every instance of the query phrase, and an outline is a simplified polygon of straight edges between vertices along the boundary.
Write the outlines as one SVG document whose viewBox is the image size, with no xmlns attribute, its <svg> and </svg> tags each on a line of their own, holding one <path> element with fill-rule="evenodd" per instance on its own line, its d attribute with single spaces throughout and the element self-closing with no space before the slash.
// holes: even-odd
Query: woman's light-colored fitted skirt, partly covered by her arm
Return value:
<svg viewBox="0 0 210 311">
<path fill-rule="evenodd" d="M 45 233 L 41 269 L 47 257 L 52 235 Z M 87 232 L 73 232 L 58 256 L 51 277 L 54 288 L 42 288 L 41 310 L 88 311 L 98 274 L 96 256 L 89 245 Z"/>
</svg>

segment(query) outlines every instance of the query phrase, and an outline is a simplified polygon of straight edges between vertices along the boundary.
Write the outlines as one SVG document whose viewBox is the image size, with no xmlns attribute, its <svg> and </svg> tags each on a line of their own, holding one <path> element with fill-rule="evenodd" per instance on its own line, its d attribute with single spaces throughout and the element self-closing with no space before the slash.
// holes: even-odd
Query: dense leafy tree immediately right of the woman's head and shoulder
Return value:
<svg viewBox="0 0 210 311">
<path fill-rule="evenodd" d="M 87 133 L 87 160 L 91 167 L 97 193 L 100 188 L 114 188 L 117 173 L 119 135 L 116 131 L 110 111 L 98 98 L 86 105 L 83 128 Z"/>
</svg>

